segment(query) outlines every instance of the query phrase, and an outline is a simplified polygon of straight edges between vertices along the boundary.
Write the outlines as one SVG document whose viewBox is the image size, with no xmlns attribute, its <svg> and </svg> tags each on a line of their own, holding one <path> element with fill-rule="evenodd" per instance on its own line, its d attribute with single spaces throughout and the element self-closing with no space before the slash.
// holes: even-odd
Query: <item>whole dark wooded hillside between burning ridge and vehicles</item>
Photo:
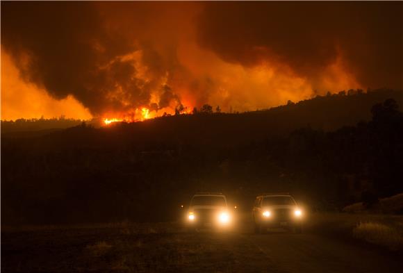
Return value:
<svg viewBox="0 0 403 273">
<path fill-rule="evenodd" d="M 226 192 L 245 210 L 258 192 L 273 190 L 293 192 L 315 210 L 403 192 L 401 94 L 2 134 L 2 222 L 173 220 L 200 190 Z M 383 97 L 396 99 L 376 103 Z"/>
</svg>

